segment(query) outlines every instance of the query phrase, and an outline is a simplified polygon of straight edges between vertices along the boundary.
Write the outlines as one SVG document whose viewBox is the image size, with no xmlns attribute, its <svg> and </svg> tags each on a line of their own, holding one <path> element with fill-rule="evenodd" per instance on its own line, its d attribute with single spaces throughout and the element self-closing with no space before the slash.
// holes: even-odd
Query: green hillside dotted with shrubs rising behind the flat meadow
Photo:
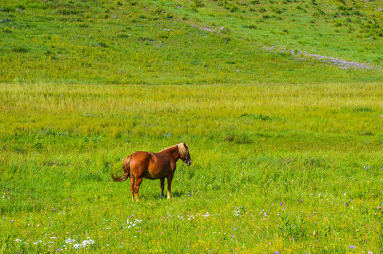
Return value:
<svg viewBox="0 0 383 254">
<path fill-rule="evenodd" d="M 382 8 L 346 0 L 4 0 L 0 82 L 377 81 Z"/>
</svg>

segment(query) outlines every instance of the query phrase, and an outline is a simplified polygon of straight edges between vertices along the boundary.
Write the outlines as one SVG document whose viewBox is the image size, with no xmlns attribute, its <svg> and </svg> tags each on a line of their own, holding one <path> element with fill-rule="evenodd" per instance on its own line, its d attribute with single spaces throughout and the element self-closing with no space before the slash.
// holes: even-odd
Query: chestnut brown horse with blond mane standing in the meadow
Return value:
<svg viewBox="0 0 383 254">
<path fill-rule="evenodd" d="M 122 176 L 111 175 L 113 181 L 126 181 L 130 178 L 130 191 L 132 200 L 138 202 L 138 190 L 142 179 L 161 181 L 161 198 L 164 196 L 165 177 L 168 179 L 168 199 L 170 199 L 171 180 L 176 171 L 178 159 L 182 159 L 188 166 L 191 164 L 189 147 L 185 143 L 173 145 L 157 153 L 133 152 L 123 161 Z"/>
</svg>

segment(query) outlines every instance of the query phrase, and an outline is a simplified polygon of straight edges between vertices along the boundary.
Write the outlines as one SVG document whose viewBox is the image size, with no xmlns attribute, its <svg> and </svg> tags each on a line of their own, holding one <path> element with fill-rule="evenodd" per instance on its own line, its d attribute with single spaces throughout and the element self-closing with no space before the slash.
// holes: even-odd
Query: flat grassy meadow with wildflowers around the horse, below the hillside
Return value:
<svg viewBox="0 0 383 254">
<path fill-rule="evenodd" d="M 379 253 L 382 88 L 3 84 L 1 252 Z M 178 142 L 171 200 L 109 181 Z"/>
</svg>

